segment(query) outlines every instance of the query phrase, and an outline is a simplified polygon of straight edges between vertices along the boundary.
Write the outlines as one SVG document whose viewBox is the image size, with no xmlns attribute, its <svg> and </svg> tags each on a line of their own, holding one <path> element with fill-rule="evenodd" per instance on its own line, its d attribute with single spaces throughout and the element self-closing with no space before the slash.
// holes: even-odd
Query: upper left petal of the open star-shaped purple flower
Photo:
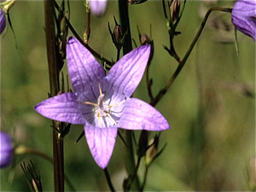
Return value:
<svg viewBox="0 0 256 192">
<path fill-rule="evenodd" d="M 73 37 L 67 41 L 67 67 L 73 90 L 79 94 L 85 91 L 93 94 L 93 89 L 98 89 L 100 79 L 105 77 L 101 64 Z"/>
</svg>

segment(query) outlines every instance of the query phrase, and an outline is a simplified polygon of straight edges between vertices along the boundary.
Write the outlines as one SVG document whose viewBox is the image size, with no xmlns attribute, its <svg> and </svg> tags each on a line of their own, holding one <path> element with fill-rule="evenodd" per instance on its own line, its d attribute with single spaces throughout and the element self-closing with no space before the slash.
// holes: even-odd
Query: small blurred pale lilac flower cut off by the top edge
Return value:
<svg viewBox="0 0 256 192">
<path fill-rule="evenodd" d="M 90 12 L 96 16 L 102 16 L 108 5 L 108 0 L 89 0 Z"/>
</svg>

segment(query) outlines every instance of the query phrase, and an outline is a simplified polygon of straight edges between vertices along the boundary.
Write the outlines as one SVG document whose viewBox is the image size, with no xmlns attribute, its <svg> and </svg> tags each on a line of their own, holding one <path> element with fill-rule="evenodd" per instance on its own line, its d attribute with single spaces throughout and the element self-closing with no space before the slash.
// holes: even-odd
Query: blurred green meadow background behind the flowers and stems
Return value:
<svg viewBox="0 0 256 192">
<path fill-rule="evenodd" d="M 234 5 L 232 1 L 211 2 L 187 1 L 177 27 L 182 33 L 174 41 L 181 57 L 207 9 Z M 87 25 L 83 1 L 70 1 L 70 6 L 71 23 L 82 37 Z M 169 38 L 162 3 L 149 1 L 129 9 L 131 34 L 137 44 L 137 26 L 148 36 L 152 26 L 155 51 L 150 76 L 155 96 L 177 67 L 177 62 L 163 49 L 163 45 L 169 47 Z M 114 27 L 113 15 L 119 18 L 116 1 L 108 2 L 107 12 L 101 18 L 91 16 L 89 44 L 108 60 L 116 58 L 108 32 L 108 21 Z M 1 35 L 1 130 L 11 134 L 16 145 L 36 148 L 51 156 L 51 120 L 33 110 L 33 106 L 48 98 L 49 92 L 44 2 L 17 1 L 10 17 L 18 48 L 9 27 Z M 148 171 L 146 191 L 249 190 L 248 165 L 255 154 L 255 43 L 241 32 L 238 42 L 236 55 L 230 14 L 213 12 L 182 72 L 156 106 L 172 128 L 161 134 L 159 147 L 167 143 L 166 150 Z M 63 71 L 66 75 L 66 65 Z M 149 102 L 145 78 L 134 96 Z M 81 131 L 82 125 L 73 125 L 65 137 L 65 172 L 77 191 L 109 190 L 85 139 L 74 145 Z M 139 133 L 136 131 L 137 137 Z M 122 190 L 126 177 L 124 147 L 117 138 L 108 166 L 117 190 Z M 1 170 L 2 191 L 29 190 L 20 168 L 20 163 L 28 164 L 29 160 L 40 172 L 44 190 L 54 189 L 53 166 L 36 155 L 23 154 L 15 156 L 13 166 Z M 143 166 L 139 175 L 143 177 Z M 67 185 L 66 189 L 69 190 Z"/>
</svg>

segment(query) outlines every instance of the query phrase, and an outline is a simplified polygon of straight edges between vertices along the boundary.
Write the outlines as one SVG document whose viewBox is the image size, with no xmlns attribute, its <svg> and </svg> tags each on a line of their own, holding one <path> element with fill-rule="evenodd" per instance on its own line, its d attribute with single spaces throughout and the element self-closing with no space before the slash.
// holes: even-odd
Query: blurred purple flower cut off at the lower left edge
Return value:
<svg viewBox="0 0 256 192">
<path fill-rule="evenodd" d="M 0 168 L 3 168 L 13 161 L 14 148 L 11 137 L 3 131 L 0 132 L 0 143 Z"/>
</svg>

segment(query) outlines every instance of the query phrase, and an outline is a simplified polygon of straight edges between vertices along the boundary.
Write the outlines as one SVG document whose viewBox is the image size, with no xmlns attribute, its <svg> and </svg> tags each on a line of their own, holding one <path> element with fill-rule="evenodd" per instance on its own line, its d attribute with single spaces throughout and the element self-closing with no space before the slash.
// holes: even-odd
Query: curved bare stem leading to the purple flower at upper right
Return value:
<svg viewBox="0 0 256 192">
<path fill-rule="evenodd" d="M 202 20 L 201 22 L 201 26 L 198 30 L 198 32 L 196 33 L 195 35 L 195 38 L 194 40 L 192 41 L 192 43 L 190 44 L 189 46 L 189 49 L 186 53 L 186 55 L 184 55 L 183 57 L 183 60 L 179 62 L 179 65 L 176 69 L 176 71 L 172 74 L 172 77 L 171 79 L 168 81 L 168 83 L 166 84 L 166 87 L 163 89 L 163 90 L 160 90 L 160 92 L 158 93 L 158 95 L 155 97 L 154 101 L 151 102 L 150 104 L 154 107 L 159 101 L 160 99 L 166 94 L 166 91 L 170 88 L 170 86 L 172 85 L 173 81 L 177 78 L 177 75 L 180 73 L 180 71 L 183 69 L 186 61 L 188 60 L 189 58 L 189 55 L 191 54 L 192 50 L 194 49 L 195 47 L 195 44 L 198 40 L 198 38 L 201 36 L 201 32 L 203 31 L 204 29 L 204 26 L 206 25 L 207 23 L 207 19 L 209 17 L 209 15 L 212 13 L 212 11 L 223 11 L 223 12 L 229 12 L 231 13 L 232 9 L 230 8 L 211 8 L 207 11 L 207 14 L 205 15 L 204 17 L 204 20 Z"/>
</svg>

